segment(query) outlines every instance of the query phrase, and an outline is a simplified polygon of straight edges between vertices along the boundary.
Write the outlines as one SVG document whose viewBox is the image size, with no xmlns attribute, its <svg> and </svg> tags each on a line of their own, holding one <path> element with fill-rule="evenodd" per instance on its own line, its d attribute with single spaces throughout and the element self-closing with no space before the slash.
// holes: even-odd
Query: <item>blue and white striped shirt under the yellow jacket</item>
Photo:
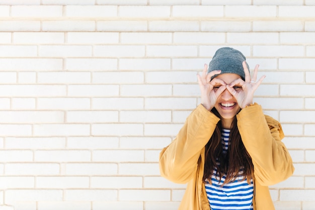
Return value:
<svg viewBox="0 0 315 210">
<path fill-rule="evenodd" d="M 228 129 L 222 130 L 222 148 L 223 154 L 226 154 L 228 149 L 229 139 Z M 247 183 L 247 179 L 243 180 L 242 170 L 235 180 L 226 183 L 222 186 L 226 176 L 220 178 L 216 176 L 217 170 L 214 169 L 211 177 L 211 182 L 206 179 L 205 188 L 209 200 L 211 210 L 250 210 L 253 209 L 254 185 Z"/>
</svg>

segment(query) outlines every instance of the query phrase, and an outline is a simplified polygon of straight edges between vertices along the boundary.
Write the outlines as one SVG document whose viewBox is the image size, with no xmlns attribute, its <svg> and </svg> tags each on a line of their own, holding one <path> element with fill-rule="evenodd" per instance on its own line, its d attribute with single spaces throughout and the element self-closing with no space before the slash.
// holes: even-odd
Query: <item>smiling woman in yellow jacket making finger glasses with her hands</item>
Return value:
<svg viewBox="0 0 315 210">
<path fill-rule="evenodd" d="M 251 79 L 245 56 L 224 47 L 197 75 L 201 104 L 160 153 L 162 176 L 188 183 L 179 209 L 275 209 L 268 185 L 294 167 L 280 123 L 253 104 L 257 72 Z"/>
</svg>

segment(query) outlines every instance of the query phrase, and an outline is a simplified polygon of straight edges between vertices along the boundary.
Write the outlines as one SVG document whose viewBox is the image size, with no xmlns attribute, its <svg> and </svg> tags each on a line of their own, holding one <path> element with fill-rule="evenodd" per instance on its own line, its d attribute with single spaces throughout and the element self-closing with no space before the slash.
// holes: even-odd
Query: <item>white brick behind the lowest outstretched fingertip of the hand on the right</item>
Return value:
<svg viewBox="0 0 315 210">
<path fill-rule="evenodd" d="M 263 75 L 266 76 L 263 83 L 301 84 L 304 82 L 303 72 L 260 72 L 258 70 L 257 78 Z"/>
</svg>

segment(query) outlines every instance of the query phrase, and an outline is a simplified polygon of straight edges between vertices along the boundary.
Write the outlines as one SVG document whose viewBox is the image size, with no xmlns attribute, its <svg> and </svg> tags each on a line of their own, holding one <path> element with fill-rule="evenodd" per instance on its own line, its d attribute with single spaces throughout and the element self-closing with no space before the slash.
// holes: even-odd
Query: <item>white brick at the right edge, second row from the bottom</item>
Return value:
<svg viewBox="0 0 315 210">
<path fill-rule="evenodd" d="M 280 190 L 280 200 L 283 201 L 313 201 L 315 190 L 284 189 Z"/>
</svg>

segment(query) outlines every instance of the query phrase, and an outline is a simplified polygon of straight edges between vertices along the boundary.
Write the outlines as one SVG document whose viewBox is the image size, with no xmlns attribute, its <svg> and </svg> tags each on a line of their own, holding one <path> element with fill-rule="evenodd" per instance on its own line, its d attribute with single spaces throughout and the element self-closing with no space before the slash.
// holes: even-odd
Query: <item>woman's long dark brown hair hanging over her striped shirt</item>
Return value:
<svg viewBox="0 0 315 210">
<path fill-rule="evenodd" d="M 211 110 L 216 116 L 220 117 L 215 108 Z M 226 154 L 223 154 L 221 143 L 222 124 L 219 121 L 215 130 L 205 147 L 205 165 L 203 180 L 208 179 L 211 182 L 211 176 L 219 177 L 221 181 L 224 174 L 226 178 L 222 185 L 229 183 L 238 177 L 239 173 L 250 183 L 254 174 L 252 158 L 248 154 L 238 129 L 237 118 L 234 117 L 229 135 L 229 145 Z M 214 169 L 217 170 L 216 174 Z"/>
</svg>

